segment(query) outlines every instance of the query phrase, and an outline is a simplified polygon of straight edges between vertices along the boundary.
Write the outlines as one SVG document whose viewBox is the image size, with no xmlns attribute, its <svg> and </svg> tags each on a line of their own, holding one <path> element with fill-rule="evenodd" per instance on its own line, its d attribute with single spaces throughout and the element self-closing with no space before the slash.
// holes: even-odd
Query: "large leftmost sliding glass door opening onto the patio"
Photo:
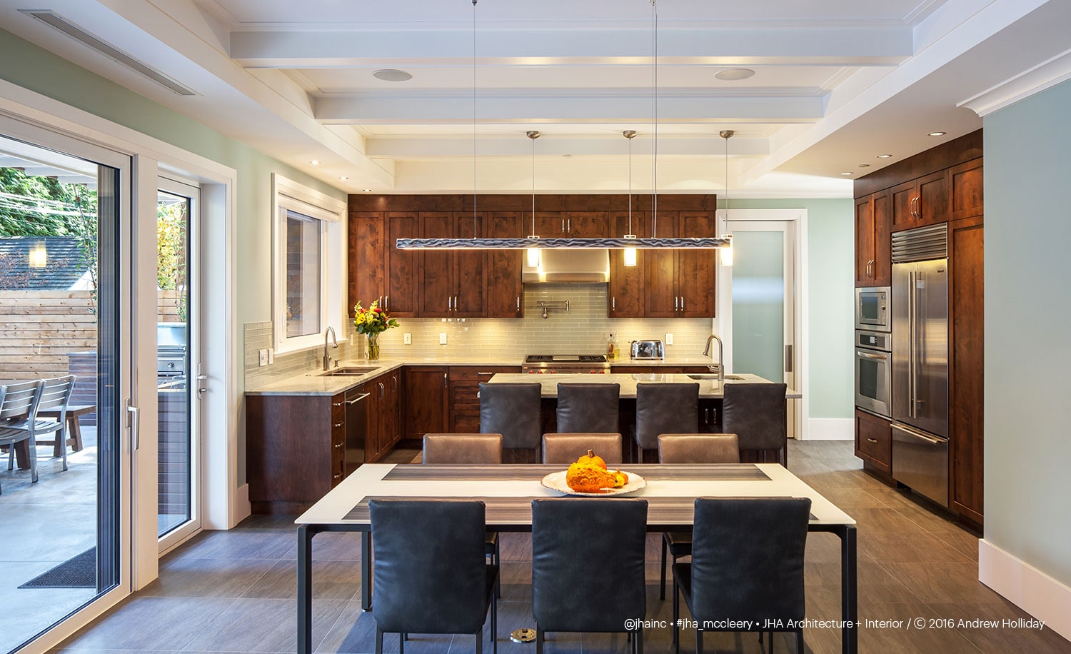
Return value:
<svg viewBox="0 0 1071 654">
<path fill-rule="evenodd" d="M 0 386 L 72 378 L 37 416 L 62 429 L 0 467 L 0 652 L 130 593 L 131 168 L 0 116 Z"/>
</svg>

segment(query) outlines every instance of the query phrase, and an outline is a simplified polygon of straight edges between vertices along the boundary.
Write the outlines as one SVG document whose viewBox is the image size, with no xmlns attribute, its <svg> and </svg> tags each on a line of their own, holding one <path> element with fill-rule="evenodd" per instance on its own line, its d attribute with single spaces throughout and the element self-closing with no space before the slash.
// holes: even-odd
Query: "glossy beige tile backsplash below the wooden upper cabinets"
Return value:
<svg viewBox="0 0 1071 654">
<path fill-rule="evenodd" d="M 606 285 L 604 284 L 533 284 L 525 286 L 524 318 L 398 318 L 401 326 L 379 337 L 384 359 L 424 359 L 429 356 L 469 358 L 481 354 L 515 356 L 517 364 L 525 354 L 601 354 L 613 332 L 622 355 L 628 358 L 629 341 L 662 339 L 673 334 L 673 345 L 666 346 L 666 356 L 698 355 L 711 332 L 708 318 L 615 318 L 606 317 Z M 555 305 L 569 301 L 569 310 L 552 306 L 543 318 L 538 302 Z M 412 335 L 412 345 L 404 345 L 403 335 Z M 447 335 L 447 345 L 439 344 L 439 334 Z M 333 356 L 363 356 L 364 337 L 358 335 L 350 345 L 352 323 L 338 339 Z M 341 335 L 340 335 L 341 336 Z M 322 351 L 311 348 L 278 354 L 275 362 L 258 366 L 257 350 L 272 347 L 271 322 L 245 324 L 245 386 L 253 389 L 278 379 L 319 367 Z"/>
</svg>

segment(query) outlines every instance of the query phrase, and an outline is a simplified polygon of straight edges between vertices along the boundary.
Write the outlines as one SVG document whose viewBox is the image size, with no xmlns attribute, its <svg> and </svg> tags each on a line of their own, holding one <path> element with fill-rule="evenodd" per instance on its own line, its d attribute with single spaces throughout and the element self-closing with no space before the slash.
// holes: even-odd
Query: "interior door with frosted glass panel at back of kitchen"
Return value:
<svg viewBox="0 0 1071 654">
<path fill-rule="evenodd" d="M 750 372 L 797 389 L 796 225 L 790 220 L 730 220 L 733 372 Z M 789 401 L 788 436 L 797 432 Z"/>
</svg>

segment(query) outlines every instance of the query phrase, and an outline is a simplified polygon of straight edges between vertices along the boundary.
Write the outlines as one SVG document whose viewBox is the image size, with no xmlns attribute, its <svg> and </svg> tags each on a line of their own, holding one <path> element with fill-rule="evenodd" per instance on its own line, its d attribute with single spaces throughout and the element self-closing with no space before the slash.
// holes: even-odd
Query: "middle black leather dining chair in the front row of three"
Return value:
<svg viewBox="0 0 1071 654">
<path fill-rule="evenodd" d="M 547 632 L 629 633 L 643 653 L 646 543 L 647 500 L 532 500 L 536 654 Z"/>
</svg>

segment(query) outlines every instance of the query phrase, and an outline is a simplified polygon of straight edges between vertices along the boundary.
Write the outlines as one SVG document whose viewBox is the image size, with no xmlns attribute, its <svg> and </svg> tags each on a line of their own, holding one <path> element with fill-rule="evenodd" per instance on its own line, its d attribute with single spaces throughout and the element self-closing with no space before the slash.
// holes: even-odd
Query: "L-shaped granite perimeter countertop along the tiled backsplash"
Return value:
<svg viewBox="0 0 1071 654">
<path fill-rule="evenodd" d="M 629 359 L 623 356 L 621 359 L 615 359 L 609 362 L 613 367 L 617 366 L 667 366 L 667 367 L 679 367 L 679 366 L 706 366 L 711 362 L 710 358 L 702 355 L 668 355 L 666 359 L 658 360 L 642 360 L 642 359 Z M 346 391 L 363 384 L 364 382 L 375 379 L 381 375 L 395 370 L 402 366 L 516 366 L 521 367 L 524 363 L 524 356 L 517 354 L 500 355 L 500 354 L 436 354 L 431 356 L 413 356 L 407 359 L 381 359 L 375 362 L 368 362 L 363 359 L 343 361 L 338 364 L 340 368 L 375 368 L 363 375 L 335 375 L 327 376 L 322 374 L 322 370 L 307 370 L 293 377 L 288 377 L 286 379 L 280 379 L 276 381 L 268 382 L 263 385 L 247 389 L 245 391 L 246 395 L 337 395 L 338 393 L 345 393 Z M 642 375 L 643 376 L 643 375 Z M 518 376 L 519 377 L 519 376 Z M 525 380 L 531 380 L 533 376 L 524 376 Z M 572 377 L 576 378 L 579 376 L 568 375 L 560 376 L 554 375 L 550 377 Z M 600 376 L 600 379 L 605 379 L 607 376 Z M 631 377 L 624 375 L 624 377 Z M 664 377 L 664 376 L 663 376 Z M 670 376 L 672 377 L 672 376 Z M 678 376 L 682 377 L 682 376 Z M 754 377 L 754 376 L 752 376 Z M 760 378 L 755 378 L 760 380 Z M 640 380 L 644 381 L 644 380 Z M 653 380 L 651 380 L 653 381 Z M 684 381 L 695 381 L 692 379 L 684 378 Z M 765 381 L 765 380 L 760 380 Z M 557 382 L 555 382 L 557 384 Z M 635 392 L 635 389 L 633 389 Z M 622 397 L 624 393 L 624 384 L 622 384 Z M 702 389 L 700 389 L 702 393 Z M 552 396 L 553 397 L 553 396 Z M 713 397 L 713 396 L 712 396 Z M 719 394 L 716 397 L 721 397 Z"/>
</svg>

